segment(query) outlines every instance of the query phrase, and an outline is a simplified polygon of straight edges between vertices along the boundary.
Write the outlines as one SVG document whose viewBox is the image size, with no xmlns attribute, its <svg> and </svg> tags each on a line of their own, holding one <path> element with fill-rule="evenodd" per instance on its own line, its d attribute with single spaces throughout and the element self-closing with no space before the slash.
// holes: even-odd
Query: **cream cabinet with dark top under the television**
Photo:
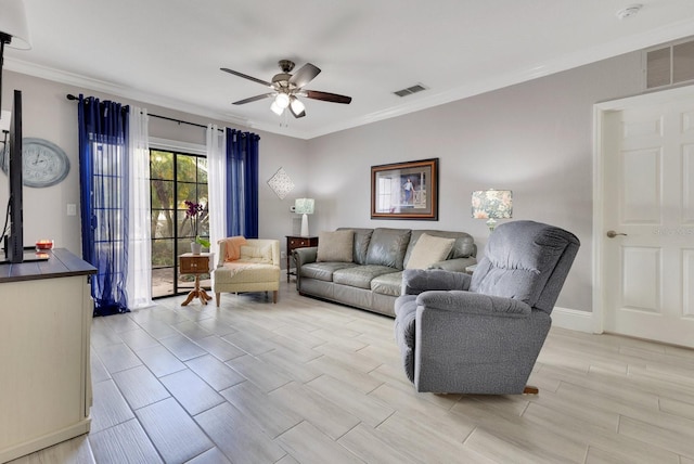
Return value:
<svg viewBox="0 0 694 464">
<path fill-rule="evenodd" d="M 89 431 L 91 271 L 55 253 L 50 265 L 12 265 L 21 278 L 0 270 L 0 462 Z M 85 266 L 60 272 L 78 261 L 59 256 Z"/>
</svg>

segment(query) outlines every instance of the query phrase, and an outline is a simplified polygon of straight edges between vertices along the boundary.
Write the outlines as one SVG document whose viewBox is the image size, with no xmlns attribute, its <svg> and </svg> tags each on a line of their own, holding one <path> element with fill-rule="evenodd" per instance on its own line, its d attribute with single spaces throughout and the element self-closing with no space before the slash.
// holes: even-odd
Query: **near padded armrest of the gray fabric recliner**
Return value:
<svg viewBox="0 0 694 464">
<path fill-rule="evenodd" d="M 500 318 L 527 318 L 532 312 L 530 306 L 518 299 L 461 291 L 424 292 L 416 297 L 416 304 L 424 310 L 433 308 Z"/>
</svg>

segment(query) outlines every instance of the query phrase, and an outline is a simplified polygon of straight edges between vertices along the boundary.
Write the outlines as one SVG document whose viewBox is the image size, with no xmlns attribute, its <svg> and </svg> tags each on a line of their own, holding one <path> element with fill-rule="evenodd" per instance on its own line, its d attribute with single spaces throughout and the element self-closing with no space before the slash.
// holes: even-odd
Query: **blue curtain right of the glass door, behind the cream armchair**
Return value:
<svg viewBox="0 0 694 464">
<path fill-rule="evenodd" d="M 227 236 L 258 239 L 258 141 L 227 128 Z"/>
</svg>

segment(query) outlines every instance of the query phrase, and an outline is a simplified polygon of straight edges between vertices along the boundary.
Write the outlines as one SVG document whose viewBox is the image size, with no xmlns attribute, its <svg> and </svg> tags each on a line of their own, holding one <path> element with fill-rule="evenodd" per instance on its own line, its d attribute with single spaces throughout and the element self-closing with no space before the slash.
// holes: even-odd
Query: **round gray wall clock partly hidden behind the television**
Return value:
<svg viewBox="0 0 694 464">
<path fill-rule="evenodd" d="M 9 146 L 2 154 L 2 170 L 10 166 Z M 69 159 L 56 144 L 43 139 L 22 139 L 22 178 L 26 186 L 55 185 L 69 172 Z"/>
</svg>

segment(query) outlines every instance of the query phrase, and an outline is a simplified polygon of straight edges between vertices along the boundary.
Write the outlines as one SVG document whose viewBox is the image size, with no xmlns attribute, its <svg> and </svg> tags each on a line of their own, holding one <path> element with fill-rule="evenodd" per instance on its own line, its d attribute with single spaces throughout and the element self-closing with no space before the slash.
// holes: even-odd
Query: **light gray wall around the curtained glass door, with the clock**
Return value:
<svg viewBox="0 0 694 464">
<path fill-rule="evenodd" d="M 4 70 L 2 77 L 2 109 L 11 109 L 13 90 L 22 90 L 24 137 L 36 137 L 55 143 L 65 151 L 70 162 L 69 175 L 63 182 L 46 189 L 24 188 L 24 242 L 27 246 L 39 239 L 53 239 L 55 246 L 67 248 L 81 256 L 79 214 L 73 217 L 66 214 L 68 204 L 78 205 L 79 211 L 77 104 L 65 98 L 67 93 L 75 95 L 83 93 L 102 100 L 111 99 L 124 104 L 146 107 L 150 114 L 191 123 L 202 125 L 214 123 L 220 127 L 224 126 L 223 121 L 208 120 L 196 115 L 147 105 L 142 102 L 133 102 L 128 99 L 92 92 L 88 89 L 79 89 L 8 70 Z M 229 126 L 253 131 L 253 129 Z M 281 239 L 292 233 L 292 218 L 295 215 L 290 212 L 290 204 L 294 203 L 294 198 L 306 194 L 307 142 L 268 132 L 258 131 L 257 133 L 260 136 L 259 233 L 262 237 Z M 150 136 L 205 144 L 205 129 L 190 125 L 179 125 L 154 117 L 150 119 Z M 280 201 L 267 184 L 268 179 L 280 167 L 284 167 L 297 185 L 295 192 L 284 201 Z M 1 173 L 0 205 L 2 206 L 0 209 L 3 210 L 8 202 L 8 178 L 4 173 Z"/>
</svg>

